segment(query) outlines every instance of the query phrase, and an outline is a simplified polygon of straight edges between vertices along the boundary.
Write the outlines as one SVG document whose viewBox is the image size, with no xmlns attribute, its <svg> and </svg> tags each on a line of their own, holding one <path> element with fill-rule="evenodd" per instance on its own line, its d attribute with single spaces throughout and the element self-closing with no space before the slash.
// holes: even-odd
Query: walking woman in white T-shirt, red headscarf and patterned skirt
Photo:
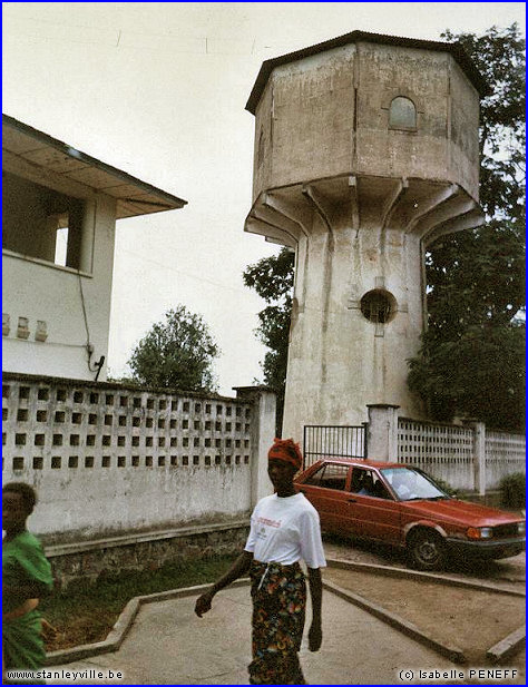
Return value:
<svg viewBox="0 0 528 687">
<path fill-rule="evenodd" d="M 293 478 L 303 459 L 292 439 L 275 439 L 270 449 L 267 473 L 275 493 L 261 499 L 251 518 L 244 552 L 232 568 L 196 601 L 198 617 L 211 609 L 213 597 L 250 572 L 253 600 L 253 660 L 251 685 L 305 685 L 297 652 L 304 629 L 306 583 L 299 561 L 305 561 L 312 597 L 309 648 L 322 642 L 321 568 L 326 565 L 319 514 Z"/>
</svg>

